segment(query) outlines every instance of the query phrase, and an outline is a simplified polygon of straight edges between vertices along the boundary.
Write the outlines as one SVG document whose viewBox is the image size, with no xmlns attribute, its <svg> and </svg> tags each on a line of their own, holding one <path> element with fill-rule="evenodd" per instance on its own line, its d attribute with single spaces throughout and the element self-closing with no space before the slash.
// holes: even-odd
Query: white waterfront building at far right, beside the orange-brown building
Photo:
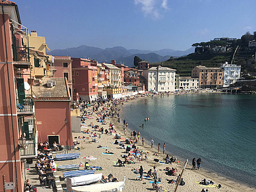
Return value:
<svg viewBox="0 0 256 192">
<path fill-rule="evenodd" d="M 221 67 L 224 69 L 223 87 L 230 86 L 231 84 L 234 84 L 237 79 L 240 79 L 240 65 L 228 64 L 228 62 L 226 62 L 225 64 L 222 64 Z"/>
</svg>

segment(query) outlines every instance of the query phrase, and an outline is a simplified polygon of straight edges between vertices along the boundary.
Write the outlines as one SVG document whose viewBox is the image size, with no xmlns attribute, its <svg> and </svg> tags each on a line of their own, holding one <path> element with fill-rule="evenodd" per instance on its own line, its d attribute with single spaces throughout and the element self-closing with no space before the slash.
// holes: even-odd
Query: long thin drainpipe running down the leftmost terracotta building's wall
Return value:
<svg viewBox="0 0 256 192">
<path fill-rule="evenodd" d="M 13 104 L 11 100 L 11 85 L 10 85 L 10 76 L 9 76 L 9 63 L 8 63 L 8 51 L 7 51 L 7 40 L 6 40 L 6 32 L 5 32 L 5 11 L 3 10 L 2 5 L 2 13 L 3 13 L 3 29 L 5 33 L 5 53 L 6 53 L 6 65 L 7 65 L 7 77 L 8 77 L 8 86 L 9 86 L 9 98 L 10 98 L 10 107 L 11 107 L 11 122 L 13 129 L 13 150 L 15 152 L 15 175 L 16 175 L 16 191 L 18 192 L 18 174 L 17 174 L 17 164 L 16 164 L 16 151 L 15 151 L 15 131 L 13 127 Z"/>
</svg>

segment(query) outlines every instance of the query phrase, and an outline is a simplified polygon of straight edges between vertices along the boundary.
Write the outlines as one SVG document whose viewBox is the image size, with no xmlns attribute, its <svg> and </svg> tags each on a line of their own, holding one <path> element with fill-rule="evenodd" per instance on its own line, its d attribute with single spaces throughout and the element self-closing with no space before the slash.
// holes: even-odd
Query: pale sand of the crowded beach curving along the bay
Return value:
<svg viewBox="0 0 256 192">
<path fill-rule="evenodd" d="M 138 98 L 140 99 L 140 98 Z M 125 103 L 128 104 L 128 103 Z M 100 107 L 102 108 L 102 107 Z M 90 108 L 87 108 L 86 111 L 90 112 L 92 110 L 92 106 Z M 96 118 L 98 115 L 96 113 L 92 114 L 91 119 L 85 120 L 85 127 L 81 128 L 81 131 L 89 129 L 90 131 L 93 131 L 92 127 L 90 127 L 90 123 L 93 123 L 94 125 L 98 125 L 99 127 L 104 127 L 104 129 L 108 129 L 110 123 L 113 123 L 115 125 L 115 129 L 117 130 L 117 133 L 121 135 L 122 139 L 119 139 L 119 141 L 125 140 L 125 138 L 131 138 L 130 133 L 131 130 L 133 130 L 133 127 L 129 127 L 126 136 L 123 133 L 123 119 L 120 119 L 120 123 L 117 122 L 117 117 L 114 118 L 107 118 L 106 119 L 106 125 L 102 125 L 102 123 L 98 123 L 96 121 Z M 95 131 L 93 131 L 94 133 Z M 168 183 L 168 180 L 170 179 L 177 179 L 177 176 L 168 176 L 166 175 L 166 171 L 164 169 L 166 167 L 170 168 L 177 168 L 178 172 L 177 174 L 181 173 L 181 170 L 184 166 L 184 161 L 179 161 L 179 163 L 174 162 L 173 164 L 160 164 L 159 162 L 155 162 L 154 159 L 158 158 L 160 161 L 164 161 L 164 158 L 166 157 L 166 154 L 162 154 L 162 150 L 160 150 L 160 153 L 158 156 L 153 155 L 154 153 L 158 152 L 157 144 L 154 143 L 154 148 L 150 147 L 150 142 L 146 141 L 144 146 L 142 146 L 141 138 L 143 135 L 141 135 L 141 138 L 137 144 L 135 144 L 137 147 L 139 147 L 139 150 L 143 150 L 143 152 L 148 152 L 148 159 L 147 160 L 141 160 L 139 161 L 139 158 L 135 161 L 135 164 L 125 164 L 124 167 L 115 166 L 114 162 L 117 162 L 117 158 L 124 160 L 124 158 L 121 158 L 125 153 L 125 149 L 122 149 L 119 147 L 118 144 L 112 144 L 115 142 L 114 135 L 110 134 L 104 134 L 102 135 L 100 132 L 96 132 L 98 137 L 96 138 L 98 143 L 92 143 L 92 137 L 90 137 L 90 134 L 83 134 L 83 133 L 73 133 L 73 139 L 80 142 L 77 146 L 79 146 L 79 150 L 73 150 L 72 152 L 80 152 L 81 155 L 76 160 L 66 160 L 66 161 L 57 161 L 57 166 L 65 165 L 65 164 L 80 164 L 80 162 L 88 162 L 90 166 L 102 166 L 104 170 L 96 171 L 96 173 L 102 173 L 104 176 L 108 176 L 109 174 L 113 174 L 114 177 L 119 179 L 119 181 L 123 181 L 125 177 L 125 187 L 123 191 L 153 191 L 152 184 L 149 183 L 149 181 L 153 181 L 153 179 L 143 179 L 141 181 L 139 179 L 139 174 L 135 174 L 132 170 L 134 168 L 139 169 L 140 166 L 143 166 L 144 171 L 148 172 L 148 170 L 152 169 L 153 166 L 156 166 L 157 169 L 157 176 L 162 178 L 162 188 L 166 191 L 174 191 L 176 184 L 174 183 Z M 100 135 L 100 137 L 99 137 Z M 89 137 L 88 140 L 82 140 L 82 139 L 76 139 L 77 137 Z M 110 152 L 113 152 L 114 154 L 102 154 L 102 152 L 105 152 L 105 148 L 97 148 L 98 145 L 108 147 Z M 162 149 L 162 146 L 161 146 Z M 168 150 L 168 149 L 166 149 Z M 70 152 L 70 151 L 69 151 Z M 170 156 L 178 156 L 178 154 L 169 154 Z M 86 160 L 86 158 L 83 158 L 85 156 L 94 156 L 97 159 L 96 160 Z M 80 169 L 83 169 L 84 167 L 80 167 Z M 63 177 L 63 172 L 57 172 L 57 174 L 61 177 Z M 208 189 L 208 191 L 255 191 L 254 188 L 248 187 L 247 185 L 242 185 L 240 183 L 236 183 L 234 181 L 231 181 L 225 177 L 218 176 L 218 174 L 214 174 L 212 172 L 208 172 L 201 167 L 200 170 L 192 170 L 191 160 L 189 159 L 189 162 L 187 164 L 186 169 L 183 172 L 183 180 L 185 181 L 185 185 L 179 185 L 177 188 L 177 191 L 202 191 L 202 189 Z M 167 180 L 168 179 L 168 180 Z M 202 187 L 196 182 L 202 181 L 202 179 L 208 179 L 212 180 L 214 184 L 222 185 L 222 188 L 212 187 L 208 185 L 207 187 Z"/>
</svg>

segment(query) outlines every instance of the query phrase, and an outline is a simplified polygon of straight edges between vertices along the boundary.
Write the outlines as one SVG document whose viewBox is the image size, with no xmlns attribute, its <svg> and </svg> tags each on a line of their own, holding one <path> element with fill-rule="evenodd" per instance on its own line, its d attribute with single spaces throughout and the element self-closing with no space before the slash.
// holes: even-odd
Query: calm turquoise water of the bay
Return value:
<svg viewBox="0 0 256 192">
<path fill-rule="evenodd" d="M 129 129 L 147 140 L 153 137 L 155 145 L 166 143 L 170 154 L 188 158 L 189 164 L 200 157 L 202 168 L 256 186 L 255 95 L 154 96 L 121 111 Z"/>
</svg>

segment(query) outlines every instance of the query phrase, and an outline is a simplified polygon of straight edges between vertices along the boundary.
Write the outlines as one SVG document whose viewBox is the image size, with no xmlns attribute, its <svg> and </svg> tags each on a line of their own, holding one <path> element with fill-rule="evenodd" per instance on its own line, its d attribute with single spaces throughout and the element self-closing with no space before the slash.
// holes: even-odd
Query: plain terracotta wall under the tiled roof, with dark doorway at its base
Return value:
<svg viewBox="0 0 256 192">
<path fill-rule="evenodd" d="M 62 145 L 73 145 L 70 102 L 35 101 L 35 113 L 39 139 L 42 139 L 42 142 L 48 139 L 48 135 L 59 135 Z M 66 118 L 67 124 L 65 124 Z"/>
</svg>

